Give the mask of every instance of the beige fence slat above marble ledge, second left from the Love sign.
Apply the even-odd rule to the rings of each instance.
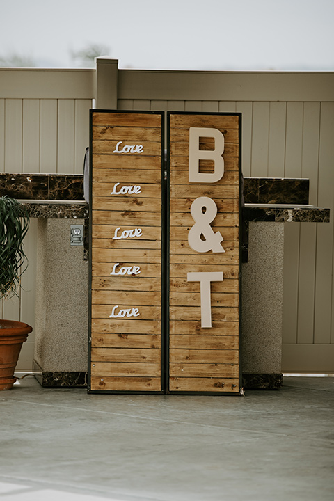
[[[74,100],[58,100],[58,174],[74,173]]]

